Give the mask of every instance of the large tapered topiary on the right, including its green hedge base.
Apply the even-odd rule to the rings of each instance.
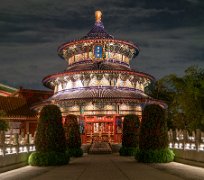
[[[170,162],[174,154],[168,149],[168,129],[165,110],[159,105],[147,105],[142,114],[139,135],[139,162]]]

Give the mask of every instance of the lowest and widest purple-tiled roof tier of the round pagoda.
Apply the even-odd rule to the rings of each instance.
[[[57,93],[44,101],[39,106],[45,104],[60,104],[68,102],[69,105],[83,104],[87,102],[102,102],[102,103],[136,103],[136,104],[159,104],[166,107],[163,101],[159,101],[149,97],[141,91],[124,91],[120,89],[103,89],[93,88],[86,90],[68,90]]]

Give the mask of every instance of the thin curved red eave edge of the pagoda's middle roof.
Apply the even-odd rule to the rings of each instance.
[[[63,72],[63,73],[56,73],[56,74],[52,74],[52,75],[48,75],[46,77],[43,78],[42,80],[42,83],[44,86],[50,88],[50,89],[53,89],[52,86],[50,86],[48,84],[48,82],[50,80],[55,80],[59,77],[63,77],[63,76],[66,76],[66,75],[73,75],[73,74],[83,74],[83,73],[110,73],[110,72],[113,72],[113,73],[126,73],[126,74],[132,74],[132,75],[137,75],[137,76],[140,76],[140,77],[145,77],[145,78],[148,78],[152,81],[155,81],[155,78],[147,73],[143,73],[143,72],[137,72],[137,71],[126,71],[126,70],[85,70],[85,71],[72,71],[72,72]]]

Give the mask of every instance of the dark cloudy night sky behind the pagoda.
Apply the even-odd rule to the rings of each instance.
[[[66,68],[57,48],[84,36],[97,9],[109,34],[140,47],[138,71],[159,79],[204,68],[204,0],[1,0],[0,83],[42,89]]]

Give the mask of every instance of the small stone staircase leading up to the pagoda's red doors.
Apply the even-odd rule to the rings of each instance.
[[[90,154],[111,154],[112,149],[109,143],[107,142],[94,142],[92,143],[90,149]]]

